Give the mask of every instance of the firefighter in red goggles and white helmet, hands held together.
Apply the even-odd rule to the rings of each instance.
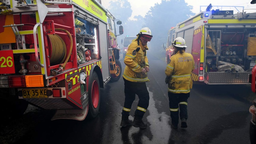
[[[137,38],[132,40],[128,46],[126,56],[124,57],[124,108],[122,110],[121,126],[132,125],[145,129],[147,124],[142,121],[149,104],[149,93],[146,82],[149,82],[147,72],[149,71],[147,42],[152,38],[151,30],[148,27],[142,28],[137,34]],[[129,112],[132,103],[135,100],[135,94],[139,97],[137,109],[135,110],[134,120],[129,120]]]

